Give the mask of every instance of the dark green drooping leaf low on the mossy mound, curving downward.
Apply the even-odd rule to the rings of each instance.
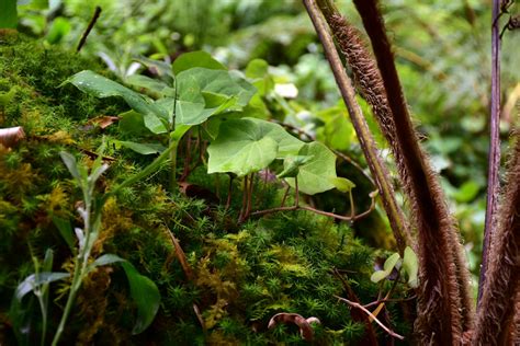
[[[140,275],[128,262],[122,262],[131,287],[131,296],[137,307],[137,321],[132,334],[145,331],[154,321],[159,310],[160,293],[156,284],[148,277]]]

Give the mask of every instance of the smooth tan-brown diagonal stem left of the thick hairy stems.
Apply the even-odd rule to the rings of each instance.
[[[326,1],[321,10],[325,13],[327,5],[330,10],[334,9],[334,4],[330,1]],[[319,41],[321,42],[327,60],[330,64],[336,83],[339,86],[343,102],[347,105],[349,115],[354,127],[355,134],[359,138],[361,149],[366,158],[369,169],[372,175],[375,177],[375,183],[381,192],[383,206],[394,232],[394,238],[397,242],[397,247],[400,255],[404,254],[407,244],[411,244],[409,227],[405,221],[403,210],[400,209],[395,198],[394,189],[391,185],[392,180],[386,168],[383,165],[375,146],[374,138],[370,132],[369,125],[363,117],[361,107],[355,101],[355,92],[352,86],[350,78],[347,76],[344,68],[339,58],[338,51],[334,45],[332,38],[327,30],[325,20],[321,16],[319,9],[313,0],[304,0],[307,12],[313,21],[314,27],[318,34]]]

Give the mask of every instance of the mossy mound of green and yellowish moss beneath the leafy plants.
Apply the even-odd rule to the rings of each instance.
[[[46,47],[18,34],[0,33],[1,127],[22,126],[26,138],[14,148],[0,146],[0,344],[15,344],[11,297],[34,272],[33,258],[47,249],[55,253],[54,270],[71,270],[71,252],[56,220],[80,226],[75,204],[80,200],[71,176],[59,159],[66,150],[89,164],[101,137],[117,137],[86,126],[101,115],[117,115],[126,106],[117,100],[97,100],[74,86],[59,86],[69,76],[100,66],[78,55]],[[113,128],[112,128],[113,127]],[[88,154],[86,154],[88,153]],[[111,168],[98,191],[110,191],[122,176],[139,171],[149,159],[112,150]],[[83,281],[63,337],[64,345],[269,345],[305,344],[295,326],[268,328],[279,312],[320,320],[315,343],[355,344],[364,325],[334,296],[346,296],[342,273],[361,301],[377,298],[370,281],[373,250],[352,235],[346,224],[307,211],[276,214],[237,224],[237,206],[229,210],[207,198],[170,194],[163,172],[123,189],[103,209],[102,233],[94,254],[114,253],[133,263],[159,287],[161,304],[154,323],[132,335],[135,307],[124,275],[116,267],[99,267]],[[224,176],[222,178],[225,178]],[[204,169],[191,183],[218,195],[215,176]],[[240,200],[235,188],[234,200]],[[274,185],[256,192],[256,207],[280,203]],[[176,255],[179,240],[191,276]],[[47,312],[49,332],[63,312],[68,281],[52,284]],[[384,285],[389,285],[384,284]],[[405,290],[397,286],[396,293]],[[41,313],[34,297],[24,300],[29,344],[39,344]],[[409,333],[402,309],[389,304],[393,327]],[[204,325],[204,328],[202,327]],[[52,336],[52,335],[50,335]],[[384,335],[380,336],[382,339]]]

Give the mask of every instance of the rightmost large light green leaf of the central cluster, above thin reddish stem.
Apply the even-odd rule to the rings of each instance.
[[[314,195],[336,187],[331,183],[331,178],[337,177],[336,155],[332,151],[319,142],[312,142],[304,145],[298,155],[313,157],[299,168],[297,178],[301,192]],[[294,178],[286,178],[286,182],[294,187]]]

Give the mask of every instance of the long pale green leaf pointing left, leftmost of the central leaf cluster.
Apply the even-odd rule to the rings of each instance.
[[[135,91],[121,85],[103,76],[86,70],[74,74],[64,83],[72,83],[79,90],[97,97],[120,96],[137,113],[143,114],[146,127],[154,134],[167,131],[166,116],[160,107]],[[162,118],[162,119],[161,119]]]

